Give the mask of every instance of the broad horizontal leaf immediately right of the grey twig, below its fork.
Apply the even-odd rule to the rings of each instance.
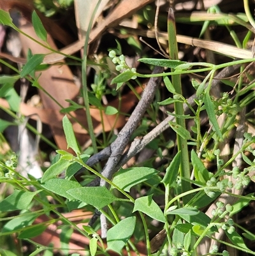
[[[132,186],[147,181],[156,174],[158,174],[158,171],[149,167],[120,169],[112,182],[122,188],[122,190],[129,192]]]

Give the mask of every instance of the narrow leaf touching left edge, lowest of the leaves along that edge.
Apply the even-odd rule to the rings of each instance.
[[[38,218],[38,216],[38,213],[30,212],[27,212],[26,214],[23,214],[21,216],[17,216],[4,225],[0,235],[4,233],[12,234],[17,232],[17,230],[21,230],[24,229],[25,227],[28,227],[34,222],[36,218]]]

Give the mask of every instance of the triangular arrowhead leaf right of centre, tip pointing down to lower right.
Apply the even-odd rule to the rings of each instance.
[[[152,195],[136,199],[133,212],[135,211],[142,211],[142,213],[145,213],[145,215],[148,215],[150,218],[158,220],[159,222],[166,222],[166,218],[164,217],[163,212],[152,199]]]

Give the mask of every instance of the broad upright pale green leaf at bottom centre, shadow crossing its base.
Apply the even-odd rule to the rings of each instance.
[[[136,225],[136,217],[131,216],[121,220],[107,232],[107,250],[113,250],[120,255],[122,248],[133,235]]]

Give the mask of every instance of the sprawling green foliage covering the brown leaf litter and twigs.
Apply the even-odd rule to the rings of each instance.
[[[59,11],[52,1],[38,0],[35,2],[37,8],[48,16]],[[71,0],[59,0],[58,3],[61,8],[67,8],[71,4]],[[218,14],[221,14],[217,8],[210,11],[216,11]],[[228,22],[225,22],[225,18]],[[229,26],[230,17],[224,17],[224,19],[217,20],[217,24]],[[240,22],[239,16],[235,15],[235,21],[238,20],[238,24],[244,26],[244,23]],[[36,11],[32,14],[32,22],[37,36],[41,40],[47,41],[47,31],[43,27]],[[170,25],[173,25],[173,29],[174,24],[173,22],[171,23]],[[19,33],[22,33],[13,24],[10,14],[3,10],[0,10],[0,24],[12,27]],[[201,27],[201,34],[205,33],[210,24],[211,22],[205,20],[203,27]],[[233,33],[231,35],[233,36]],[[233,36],[238,47],[242,47],[242,45],[246,47],[249,38],[251,38],[251,33],[247,33],[244,41],[238,43],[238,38]],[[170,35],[170,39],[170,44],[177,44],[174,33]],[[140,43],[130,37],[127,41],[129,45],[138,50],[140,55],[143,55]],[[48,46],[45,47],[50,49]],[[62,224],[59,226],[61,248],[59,250],[63,255],[68,255],[69,253],[69,241],[73,232],[79,232],[89,239],[89,244],[87,245],[89,248],[84,248],[84,251],[86,253],[89,252],[93,256],[108,256],[110,251],[124,255],[124,248],[126,248],[129,254],[132,254],[133,252],[131,253],[131,251],[134,251],[138,255],[136,245],[133,243],[134,237],[138,241],[146,243],[147,254],[151,255],[149,230],[156,229],[152,225],[153,220],[153,223],[161,222],[164,224],[166,234],[162,245],[159,245],[159,248],[157,248],[159,250],[157,255],[166,255],[164,254],[164,245],[168,246],[168,251],[171,255],[196,255],[196,250],[201,245],[203,239],[214,239],[219,230],[224,230],[230,240],[229,246],[255,255],[245,245],[244,239],[246,237],[253,241],[255,240],[254,234],[233,221],[235,219],[233,216],[242,211],[244,207],[255,199],[254,193],[249,195],[235,195],[231,193],[233,188],[242,190],[252,181],[251,172],[254,172],[255,166],[254,159],[252,159],[252,156],[254,156],[252,144],[255,142],[255,137],[249,133],[244,133],[242,146],[240,146],[237,153],[224,160],[226,163],[224,163],[221,151],[219,150],[219,148],[222,148],[222,141],[225,141],[226,138],[228,139],[230,130],[237,124],[236,116],[240,116],[240,111],[254,102],[254,82],[252,82],[254,78],[251,74],[247,75],[247,80],[249,80],[247,84],[242,80],[242,77],[240,81],[237,81],[238,84],[235,84],[235,82],[228,78],[222,80],[224,84],[231,86],[233,96],[229,92],[224,92],[221,98],[215,99],[212,97],[210,90],[214,74],[218,70],[231,67],[234,64],[247,64],[254,59],[211,64],[202,62],[187,63],[173,57],[171,59],[154,59],[141,56],[139,59],[141,63],[148,66],[163,66],[171,69],[171,72],[168,73],[144,75],[138,73],[136,68],[128,66],[121,48],[119,41],[117,41],[117,49],[110,50],[108,57],[104,53],[101,62],[92,62],[91,68],[94,69],[96,75],[93,80],[94,84],[91,84],[91,87],[89,87],[90,91],[87,91],[84,97],[88,103],[85,109],[89,111],[89,107],[97,108],[100,110],[100,114],[104,112],[106,115],[123,114],[120,113],[119,107],[104,107],[102,98],[109,93],[114,96],[119,93],[119,98],[121,98],[122,90],[117,90],[126,84],[135,91],[131,85],[132,83],[129,82],[130,79],[135,80],[132,82],[139,84],[140,80],[137,77],[150,78],[161,76],[163,77],[166,90],[170,94],[161,99],[161,96],[165,95],[156,93],[155,102],[147,110],[146,118],[142,120],[140,127],[137,128],[133,137],[147,134],[158,124],[159,113],[161,113],[159,112],[159,105],[169,110],[168,105],[173,104],[174,113],[165,112],[175,118],[175,121],[173,119],[168,121],[168,125],[171,127],[171,133],[174,133],[173,138],[177,137],[177,141],[179,141],[178,152],[175,154],[175,149],[172,151],[173,139],[168,139],[168,142],[166,142],[164,135],[161,134],[157,140],[153,140],[147,146],[150,149],[154,149],[157,154],[155,157],[153,156],[147,159],[146,162],[140,163],[140,167],[121,168],[110,181],[101,176],[100,163],[93,168],[87,165],[87,160],[89,160],[90,156],[85,154],[87,151],[84,153],[84,149],[82,145],[78,144],[75,132],[73,131],[72,122],[74,119],[71,116],[71,112],[84,109],[84,105],[75,102],[75,100],[65,99],[69,103],[69,107],[62,107],[60,110],[61,113],[68,115],[63,117],[62,126],[68,148],[72,149],[75,155],[62,149],[57,149],[57,155],[52,160],[50,167],[45,167],[46,170],[41,179],[34,179],[32,176],[22,176],[17,169],[16,154],[8,152],[6,155],[1,156],[0,182],[8,185],[6,191],[3,190],[0,201],[1,237],[3,236],[6,239],[6,237],[15,234],[15,237],[20,241],[26,241],[33,245],[31,240],[33,237],[43,234],[51,223],[61,222]],[[53,49],[51,50],[56,52]],[[174,50],[170,47],[169,52],[171,54]],[[175,58],[177,58],[177,53],[174,52],[173,54]],[[19,124],[21,120],[20,116],[16,114],[16,112],[19,112],[20,96],[18,96],[14,89],[15,82],[20,78],[25,78],[33,86],[43,90],[38,82],[40,76],[36,77],[35,73],[38,70],[48,68],[49,65],[42,64],[45,54],[33,55],[31,50],[29,50],[27,56],[27,63],[24,64],[21,71],[12,67],[15,75],[1,75],[0,77],[0,96],[6,99],[10,105],[10,110],[4,109],[4,107],[1,107],[1,109],[10,114],[14,120],[6,121],[0,119],[1,133],[9,126]],[[85,57],[87,56],[85,55]],[[80,61],[80,59],[78,60]],[[1,60],[1,63],[4,62]],[[83,60],[84,63],[89,63],[89,61],[85,62]],[[115,68],[114,72],[110,72],[110,69],[107,68],[109,63],[113,66],[113,69]],[[87,66],[85,65],[83,68],[86,70]],[[86,76],[84,70],[82,71],[83,79]],[[188,102],[182,95],[182,88],[179,83],[180,75],[193,73],[199,75],[201,72],[206,73],[204,78],[200,76],[197,80],[191,80],[191,86],[196,91],[195,104],[191,105],[192,103]],[[113,73],[115,75],[111,77]],[[241,68],[240,73],[244,73],[244,69]],[[112,79],[111,84],[117,84],[116,88],[110,87],[108,89],[110,78]],[[86,86],[84,82],[83,89]],[[184,104],[189,108],[189,114],[182,111]],[[164,112],[164,108],[162,107],[160,111]],[[200,121],[201,114],[205,114],[205,112],[208,117],[207,124],[211,126],[211,128],[206,126],[205,129],[207,130],[201,128],[202,124]],[[224,122],[220,126],[218,118],[223,114]],[[253,117],[251,118],[249,115],[250,113],[247,113],[249,117],[247,122],[253,122],[254,124],[254,120],[251,121]],[[190,129],[186,128],[187,120],[194,121]],[[93,127],[89,128],[89,132],[90,135],[91,132],[93,133]],[[96,153],[98,149],[104,149],[106,146],[109,146],[110,142],[115,138],[115,135],[113,136],[112,134],[113,131],[108,135],[103,130],[99,138],[96,138],[93,133],[92,137],[95,140],[92,142],[92,153]],[[170,144],[172,146],[169,146]],[[185,153],[184,148],[189,148],[191,153]],[[164,149],[167,151],[166,156]],[[249,153],[249,156],[247,156],[247,153]],[[154,160],[157,156],[161,160],[164,158],[164,161],[157,166],[157,169],[154,169]],[[235,166],[237,156],[242,157],[242,163],[245,163],[244,169],[241,169],[242,166]],[[213,162],[215,162],[215,168],[211,170],[205,163]],[[185,169],[184,165],[186,165],[186,173],[183,172],[183,169]],[[82,181],[76,176],[80,169],[84,170],[84,176],[81,178]],[[193,169],[192,174],[189,172],[191,169]],[[91,181],[91,172],[94,176],[105,179],[109,183],[107,188],[106,186],[84,186],[84,184],[87,185]],[[235,184],[233,181],[230,181],[229,177],[235,180]],[[224,205],[220,200],[222,194],[224,196],[238,197],[238,200],[233,205]],[[209,216],[208,213],[205,213],[205,209],[210,208],[212,204],[215,204],[215,209]],[[95,227],[89,227],[87,225],[89,220],[84,220],[84,225],[80,228],[77,223],[62,214],[78,208],[82,208],[85,211],[97,209],[106,216],[106,219],[112,225],[107,232],[106,246],[101,236],[99,236],[98,223],[96,223]],[[52,218],[52,213],[54,213],[54,218]],[[49,216],[49,220],[35,223],[36,218],[41,215]],[[238,234],[238,230],[235,230],[237,227],[242,230],[242,236]],[[221,242],[220,240],[218,241]],[[225,242],[222,241],[222,243]],[[30,256],[37,255],[43,251],[45,251],[45,256],[54,255],[54,248],[50,246],[47,247],[36,243],[34,243],[34,246],[34,252]],[[212,246],[207,255],[228,255],[226,251],[218,251],[217,246]],[[0,254],[8,256],[18,255],[14,251],[11,252],[10,248],[0,248]],[[73,253],[73,256],[77,255],[78,253]]]

